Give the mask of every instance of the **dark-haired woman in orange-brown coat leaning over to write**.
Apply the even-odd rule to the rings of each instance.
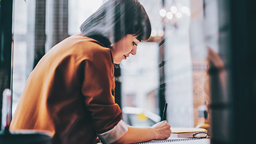
[[[11,130],[51,132],[54,143],[134,143],[170,137],[160,122],[125,124],[114,99],[114,63],[136,54],[149,38],[148,15],[137,0],[110,0],[55,45],[30,73]]]

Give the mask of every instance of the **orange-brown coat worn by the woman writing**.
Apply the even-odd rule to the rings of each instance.
[[[93,143],[122,119],[110,49],[81,34],[55,45],[30,73],[10,130],[46,130],[54,143]]]

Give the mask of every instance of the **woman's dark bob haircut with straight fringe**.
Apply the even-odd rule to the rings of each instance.
[[[151,25],[144,7],[137,0],[109,0],[83,22],[80,30],[83,36],[111,47],[127,34],[146,41],[151,34]]]

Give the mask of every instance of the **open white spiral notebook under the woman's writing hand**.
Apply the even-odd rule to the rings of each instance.
[[[198,138],[169,138],[166,140],[151,140],[146,142],[139,142],[138,144],[143,143],[195,143],[195,144],[210,144],[210,139],[198,139]]]

